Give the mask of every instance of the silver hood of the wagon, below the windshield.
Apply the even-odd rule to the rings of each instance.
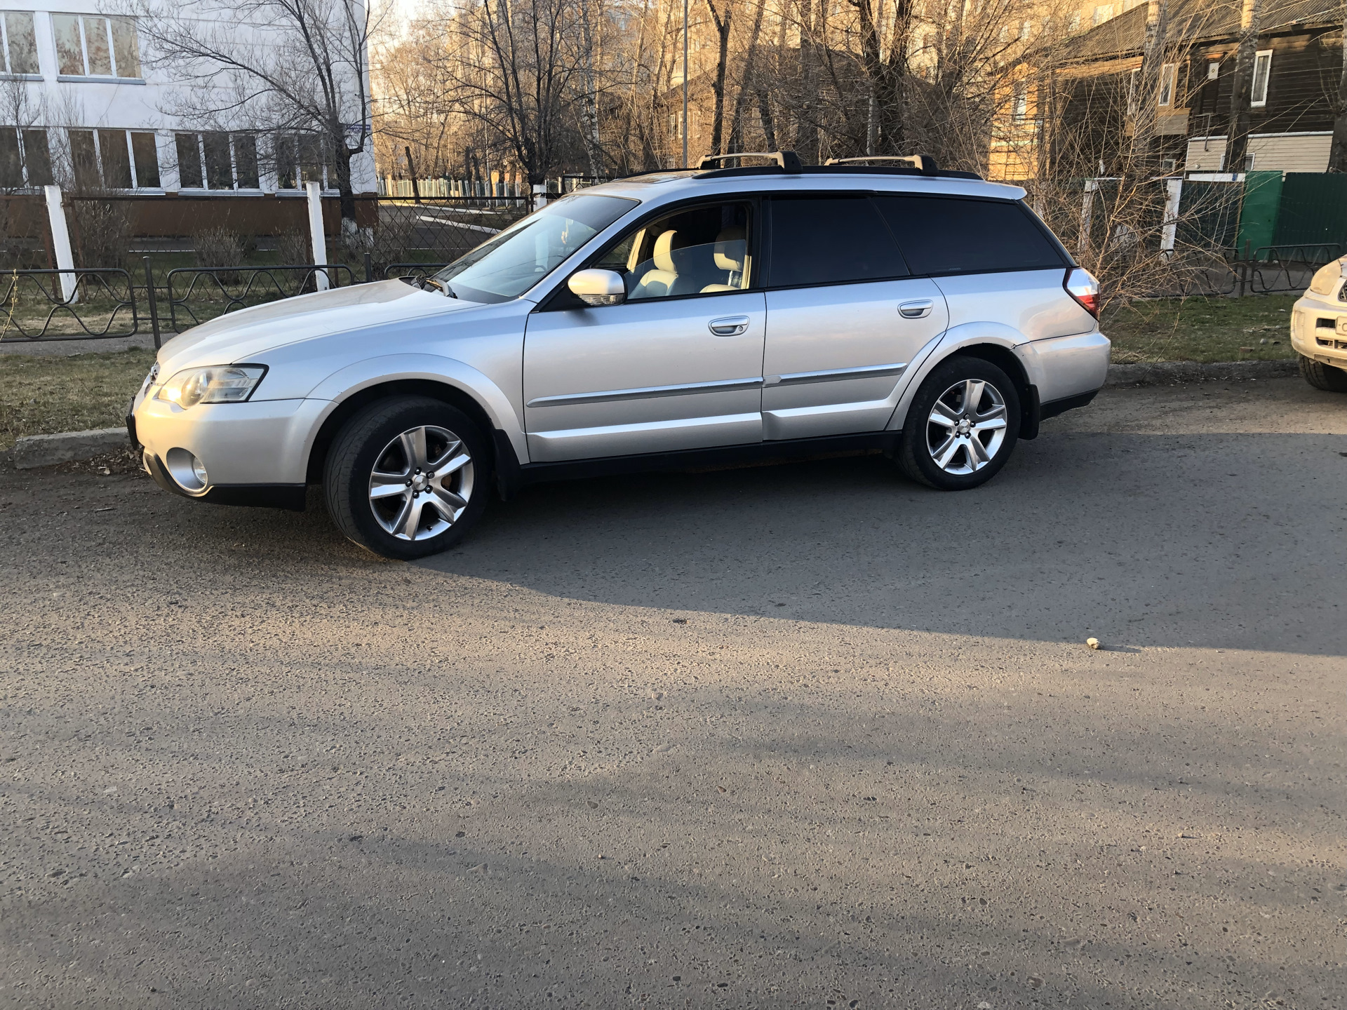
[[[291,343],[372,326],[480,308],[478,302],[422,291],[400,280],[353,284],[283,298],[194,326],[159,351],[163,374],[197,365],[230,365]]]

